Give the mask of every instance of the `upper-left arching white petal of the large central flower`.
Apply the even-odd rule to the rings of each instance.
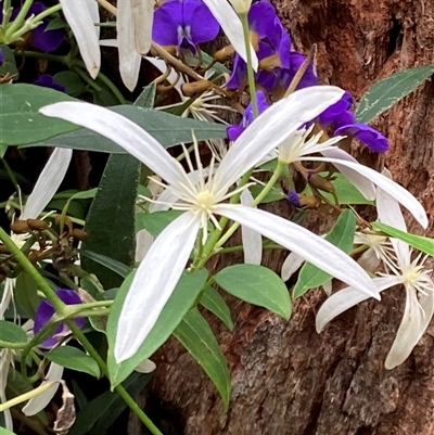
[[[41,107],[39,112],[89,128],[111,139],[169,184],[184,181],[182,166],[150,133],[125,116],[84,102],[55,103]]]

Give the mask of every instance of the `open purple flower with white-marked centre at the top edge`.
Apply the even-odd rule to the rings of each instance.
[[[196,44],[215,39],[220,30],[202,0],[168,0],[154,12],[152,39],[162,46],[178,46],[194,54]]]

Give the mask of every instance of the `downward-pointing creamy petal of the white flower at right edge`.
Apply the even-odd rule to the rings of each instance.
[[[421,303],[423,300],[424,308],[427,308],[425,314],[418,304],[416,291],[408,289],[406,293],[406,309],[403,321],[384,364],[387,370],[401,364],[409,357],[433,316],[434,293],[432,291],[427,292],[427,296],[421,297],[420,300]]]

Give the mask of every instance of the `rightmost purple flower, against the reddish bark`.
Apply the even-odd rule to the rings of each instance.
[[[388,139],[367,124],[356,123],[349,111],[344,112],[335,119],[334,127],[337,127],[334,136],[350,135],[376,153],[384,153],[388,150]]]

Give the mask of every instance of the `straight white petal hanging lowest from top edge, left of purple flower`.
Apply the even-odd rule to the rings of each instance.
[[[132,92],[139,79],[142,56],[136,50],[130,0],[117,2],[116,30],[120,77],[127,89]]]

